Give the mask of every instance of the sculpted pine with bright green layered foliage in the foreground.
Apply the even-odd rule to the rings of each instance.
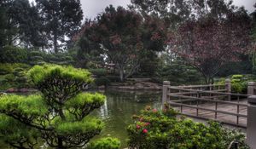
[[[34,66],[28,72],[41,91],[36,95],[0,97],[0,134],[16,148],[34,148],[37,140],[50,147],[83,147],[98,135],[102,121],[88,114],[102,106],[104,95],[82,93],[90,72],[72,66]]]

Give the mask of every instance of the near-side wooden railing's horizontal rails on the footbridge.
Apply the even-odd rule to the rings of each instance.
[[[226,115],[236,116],[236,123],[230,123],[225,121],[221,121],[221,122],[240,126],[240,127],[246,127],[244,124],[239,123],[239,118],[240,117],[247,118],[246,114],[240,113],[241,106],[244,106],[247,108],[247,104],[242,104],[239,102],[242,98],[247,98],[247,95],[219,92],[219,90],[226,91],[226,89],[218,89],[218,91],[216,90],[207,91],[207,90],[198,90],[198,89],[181,89],[178,87],[168,87],[168,90],[169,91],[177,90],[177,92],[171,92],[167,94],[167,97],[169,99],[167,103],[169,103],[171,106],[179,106],[180,107],[179,111],[183,115],[187,115],[189,117],[200,117],[204,119],[211,119],[210,117],[201,117],[199,115],[199,110],[201,110],[206,112],[214,112],[214,120],[218,120],[218,113],[222,113]],[[225,100],[225,99],[228,99],[229,96],[231,96],[232,100],[234,100],[234,97],[236,97],[236,102]],[[188,104],[188,102],[190,103],[194,102],[194,104]],[[200,106],[200,105],[207,106],[205,103],[213,103],[214,109]],[[223,104],[236,106],[236,112],[219,110],[218,106]],[[196,111],[195,115],[183,112],[183,107],[189,107],[189,108],[195,109]]]

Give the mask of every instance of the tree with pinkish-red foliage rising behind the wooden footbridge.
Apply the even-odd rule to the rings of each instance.
[[[213,83],[224,64],[247,54],[249,32],[250,20],[243,9],[221,20],[210,15],[179,26],[172,35],[172,50],[201,72],[206,83]]]

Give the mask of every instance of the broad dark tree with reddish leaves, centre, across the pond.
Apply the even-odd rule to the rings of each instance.
[[[84,52],[96,49],[106,55],[106,62],[113,63],[124,81],[137,71],[146,50],[165,49],[165,29],[157,18],[148,16],[143,20],[135,11],[110,5],[96,21],[84,24],[79,45]]]

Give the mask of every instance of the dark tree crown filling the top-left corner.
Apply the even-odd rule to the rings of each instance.
[[[28,0],[0,2],[0,40],[3,45],[42,47],[46,43],[35,6]]]

